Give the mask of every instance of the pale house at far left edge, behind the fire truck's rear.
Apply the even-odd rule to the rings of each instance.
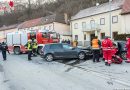
[[[18,31],[17,24],[10,26],[3,26],[0,28],[0,42],[6,38],[7,33]]]

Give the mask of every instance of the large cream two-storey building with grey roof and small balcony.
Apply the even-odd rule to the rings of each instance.
[[[130,15],[121,14],[124,2],[126,1],[113,0],[111,3],[79,11],[71,18],[72,39],[77,39],[79,45],[86,46],[94,36],[102,40],[104,36],[114,38],[117,34],[130,33],[130,26],[125,24],[130,23]]]

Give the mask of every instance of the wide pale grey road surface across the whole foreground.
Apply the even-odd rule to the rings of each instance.
[[[26,58],[8,55],[7,61],[0,60],[3,83],[10,90],[130,90],[129,64],[105,67],[103,62],[86,61],[70,66],[46,62],[40,57],[33,57],[32,61]]]

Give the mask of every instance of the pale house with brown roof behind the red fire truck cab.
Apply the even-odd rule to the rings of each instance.
[[[60,34],[60,41],[64,40],[71,40],[71,31],[70,31],[70,25],[66,24],[67,17],[65,18],[64,15],[50,15],[43,17],[42,19],[42,29],[49,30],[49,31],[55,31]]]

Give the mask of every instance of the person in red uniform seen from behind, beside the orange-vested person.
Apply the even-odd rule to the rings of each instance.
[[[105,65],[110,66],[112,63],[112,47],[113,43],[108,36],[102,41],[103,57],[105,59]]]

